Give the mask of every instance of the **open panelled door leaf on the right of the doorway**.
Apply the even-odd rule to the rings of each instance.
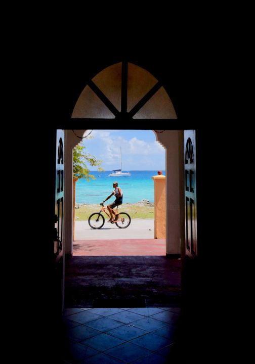
[[[186,256],[197,256],[196,140],[195,130],[184,130]]]

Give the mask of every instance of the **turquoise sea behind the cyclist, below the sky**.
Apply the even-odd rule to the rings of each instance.
[[[96,179],[91,179],[89,182],[84,178],[77,180],[75,202],[99,204],[112,193],[112,183],[115,180],[123,191],[123,203],[136,203],[141,200],[154,202],[154,181],[151,177],[157,175],[157,170],[130,170],[130,177],[122,176],[118,178],[109,177],[108,174],[111,172],[91,171],[90,174],[95,175]],[[123,170],[123,172],[125,171]],[[164,170],[162,170],[162,174],[165,175]],[[110,203],[113,202],[114,196],[108,201]]]

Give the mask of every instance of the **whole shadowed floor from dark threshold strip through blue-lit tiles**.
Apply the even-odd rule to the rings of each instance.
[[[180,259],[74,256],[65,272],[63,362],[180,359]]]

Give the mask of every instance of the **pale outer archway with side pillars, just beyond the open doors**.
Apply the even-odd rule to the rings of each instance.
[[[95,120],[95,124],[96,120]],[[65,130],[65,255],[73,252],[73,196],[72,196],[72,151],[80,143],[88,129]],[[114,129],[113,129],[114,130]],[[153,131],[153,130],[152,130]],[[185,248],[185,212],[184,212],[184,131],[154,131],[156,140],[165,148],[166,171],[166,255],[180,256]],[[77,134],[77,135],[75,135]]]

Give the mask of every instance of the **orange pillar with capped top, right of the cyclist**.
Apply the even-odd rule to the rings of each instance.
[[[165,239],[165,176],[151,178],[154,180],[154,239]]]

